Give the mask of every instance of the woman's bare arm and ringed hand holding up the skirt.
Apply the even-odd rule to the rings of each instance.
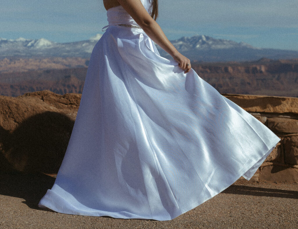
[[[120,5],[131,15],[144,32],[162,49],[169,53],[179,63],[179,67],[189,72],[190,60],[179,53],[168,40],[159,24],[148,14],[140,0],[117,0]],[[187,64],[189,64],[187,66]]]

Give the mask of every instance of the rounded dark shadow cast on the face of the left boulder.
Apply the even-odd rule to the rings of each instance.
[[[12,133],[0,126],[1,153],[18,171],[55,174],[73,125],[66,115],[47,111],[25,119]]]

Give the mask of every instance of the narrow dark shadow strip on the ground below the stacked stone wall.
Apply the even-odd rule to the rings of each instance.
[[[251,187],[251,186],[245,186],[245,185],[231,185],[222,193],[298,199],[298,191],[290,191],[290,190],[274,189],[274,188],[258,188],[258,187]]]

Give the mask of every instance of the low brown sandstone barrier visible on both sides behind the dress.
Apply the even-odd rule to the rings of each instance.
[[[225,94],[280,137],[252,180],[298,182],[298,98]],[[0,96],[0,172],[55,174],[81,94],[50,91]]]

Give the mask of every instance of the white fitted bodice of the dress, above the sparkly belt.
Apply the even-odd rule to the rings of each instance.
[[[143,6],[149,12],[151,0],[141,0]],[[126,10],[120,5],[115,6],[107,10],[108,25],[103,27],[109,27],[111,25],[128,24],[138,25],[136,21],[126,12]]]

